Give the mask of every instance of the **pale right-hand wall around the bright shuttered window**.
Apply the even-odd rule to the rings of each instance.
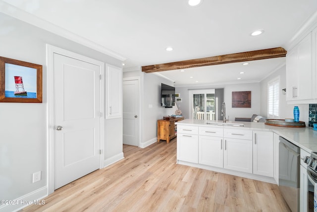
[[[267,76],[264,80],[261,81],[261,114],[267,116],[267,83],[276,78],[280,77],[280,98],[279,98],[279,118],[294,118],[293,109],[294,104],[288,104],[286,102],[286,95],[282,94],[282,89],[286,87],[286,66],[277,69],[269,76]],[[286,90],[287,92],[287,90]],[[304,121],[306,126],[308,126],[308,118],[309,118],[309,104],[296,104],[300,111],[300,121]]]

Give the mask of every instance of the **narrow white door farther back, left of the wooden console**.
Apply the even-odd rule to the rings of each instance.
[[[139,80],[123,81],[123,143],[138,146]]]

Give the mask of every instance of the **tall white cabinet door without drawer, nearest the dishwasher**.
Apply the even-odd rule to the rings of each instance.
[[[253,174],[273,177],[273,133],[253,132]]]

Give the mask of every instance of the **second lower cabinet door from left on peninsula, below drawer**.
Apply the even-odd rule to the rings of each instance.
[[[199,136],[200,164],[223,168],[223,144],[219,137]]]

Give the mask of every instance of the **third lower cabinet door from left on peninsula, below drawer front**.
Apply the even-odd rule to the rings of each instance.
[[[223,168],[252,173],[252,140],[224,138]]]

